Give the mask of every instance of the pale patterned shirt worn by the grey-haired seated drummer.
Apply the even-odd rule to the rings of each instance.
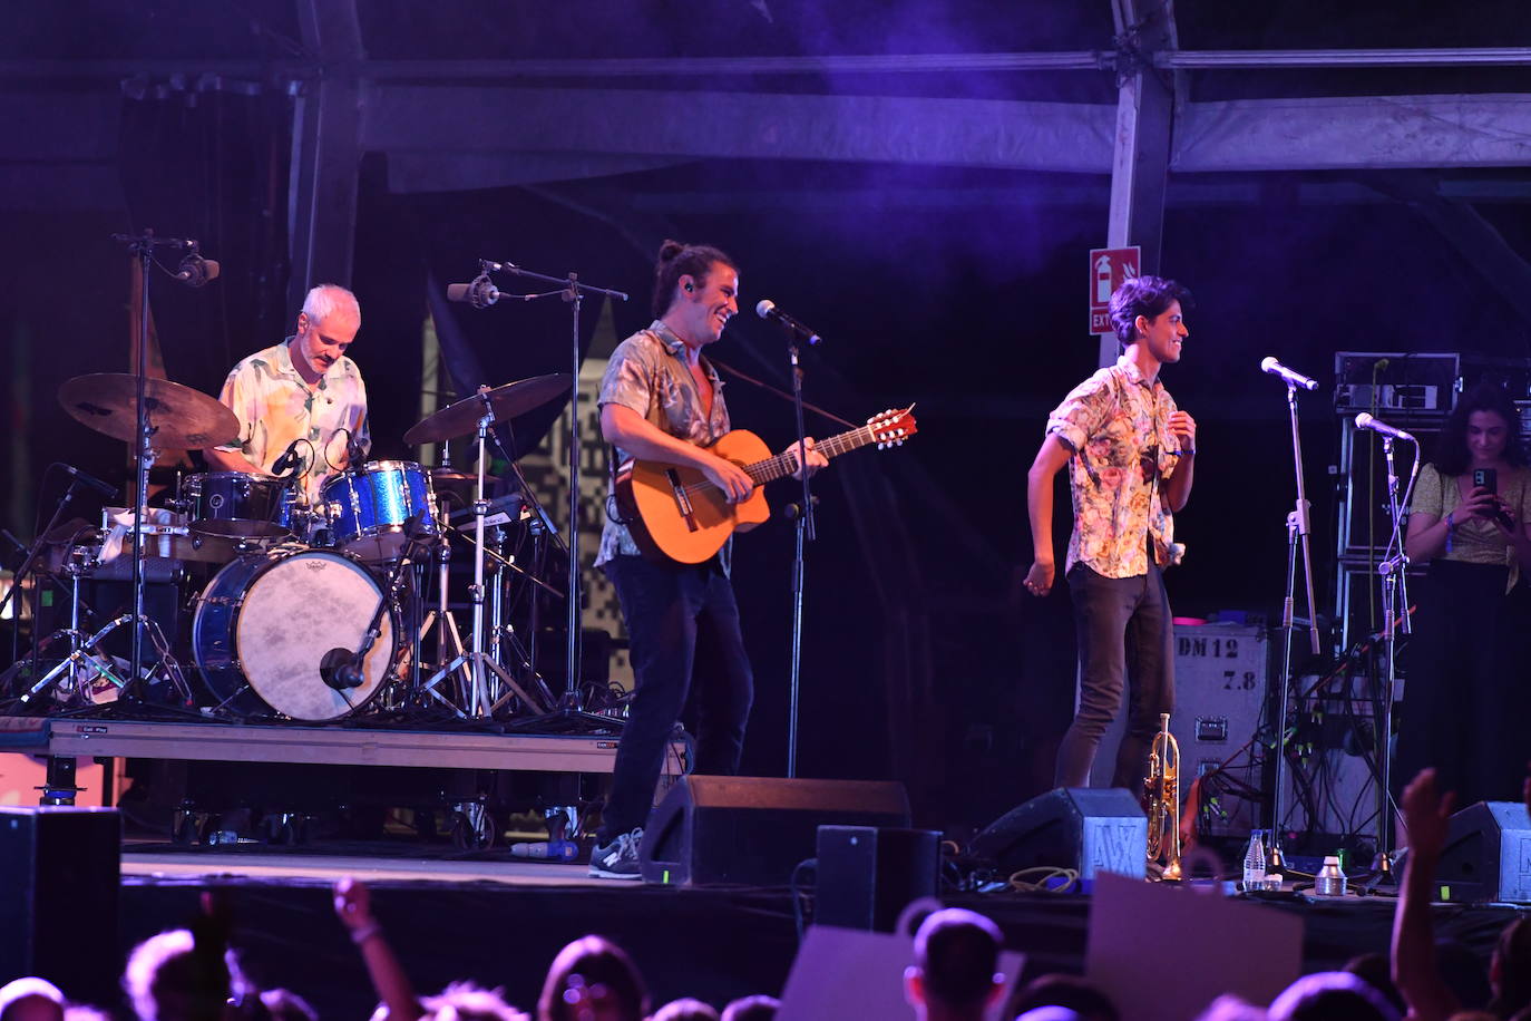
[[[372,447],[367,390],[357,363],[346,357],[309,389],[286,343],[257,351],[230,370],[219,400],[239,419],[240,436],[222,450],[240,452],[263,471],[271,471],[292,441],[302,441],[299,478],[309,504],[318,502],[326,479],[348,467],[348,438],[354,436],[363,453]]]

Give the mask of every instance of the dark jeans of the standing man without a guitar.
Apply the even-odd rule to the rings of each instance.
[[[1112,787],[1142,790],[1159,713],[1174,709],[1174,628],[1164,574],[1108,579],[1082,563],[1069,571],[1069,595],[1079,637],[1079,710],[1058,749],[1053,782],[1084,787],[1101,735],[1122,704],[1127,730],[1116,752]]]

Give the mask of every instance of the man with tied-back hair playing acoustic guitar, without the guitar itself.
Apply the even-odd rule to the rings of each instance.
[[[617,346],[600,384],[602,435],[619,461],[695,468],[727,504],[741,504],[755,491],[755,479],[709,450],[729,432],[729,410],[723,383],[701,354],[739,311],[738,268],[717,248],[668,240],[654,276],[654,323]],[[782,456],[796,467],[795,449]],[[810,470],[828,464],[811,439],[807,462]],[[622,602],[635,690],[591,851],[591,876],[638,879],[643,822],[694,675],[700,684],[695,771],[738,771],[755,681],[739,634],[729,551],[724,542],[700,563],[652,550],[645,557],[615,491],[608,499],[596,566]],[[703,634],[715,663],[695,661]]]

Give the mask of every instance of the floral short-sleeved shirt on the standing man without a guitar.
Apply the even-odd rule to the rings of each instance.
[[[1154,563],[1180,562],[1185,548],[1174,542],[1164,493],[1179,459],[1179,442],[1165,426],[1173,412],[1164,384],[1145,380],[1122,355],[1076,386],[1047,418],[1047,435],[1073,452],[1066,572],[1084,563],[1110,579],[1147,574],[1150,543]]]

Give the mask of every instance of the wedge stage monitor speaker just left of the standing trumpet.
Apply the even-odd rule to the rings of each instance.
[[[971,851],[1004,876],[1053,865],[1078,869],[1085,886],[1096,873],[1142,879],[1148,817],[1124,787],[1058,787],[991,822]]]

